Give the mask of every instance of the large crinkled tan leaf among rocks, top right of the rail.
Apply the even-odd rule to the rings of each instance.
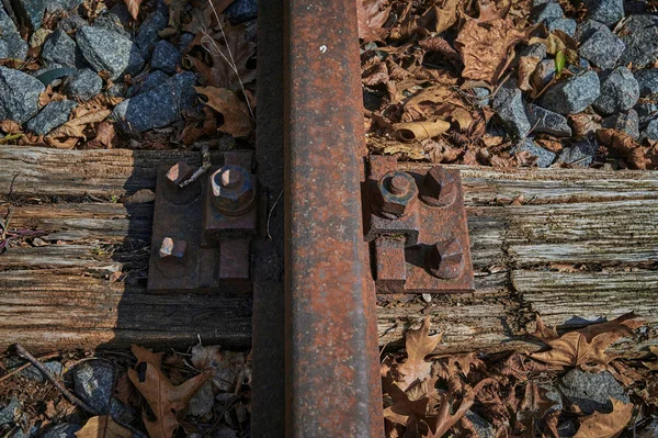
[[[462,55],[462,77],[496,83],[513,55],[514,45],[525,33],[514,26],[511,19],[481,21],[467,19],[455,40]]]

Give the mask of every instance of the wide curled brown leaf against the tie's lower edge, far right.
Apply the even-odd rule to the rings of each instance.
[[[632,329],[640,327],[644,321],[637,319],[637,317],[633,312],[627,313],[606,323],[592,324],[578,330],[568,332],[559,338],[552,338],[553,333],[547,336],[548,332],[543,329],[537,337],[551,347],[551,350],[534,352],[530,357],[561,367],[608,363],[614,357],[606,355],[605,349],[615,340],[631,336]]]

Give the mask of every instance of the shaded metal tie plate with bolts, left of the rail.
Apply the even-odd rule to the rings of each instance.
[[[251,291],[249,246],[257,229],[253,154],[234,150],[181,188],[196,170],[183,161],[158,169],[148,291]]]

